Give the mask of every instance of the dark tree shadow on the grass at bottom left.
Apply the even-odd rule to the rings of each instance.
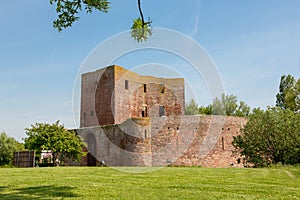
[[[0,187],[0,192],[5,187]],[[11,193],[1,194],[1,199],[57,199],[64,197],[79,197],[73,190],[74,187],[58,187],[58,186],[36,186],[20,188]]]

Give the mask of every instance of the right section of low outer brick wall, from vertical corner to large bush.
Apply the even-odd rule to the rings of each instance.
[[[152,119],[152,165],[239,166],[231,143],[246,122],[240,117],[200,115]]]

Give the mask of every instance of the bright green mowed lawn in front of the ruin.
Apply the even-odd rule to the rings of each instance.
[[[0,199],[300,199],[300,168],[0,168]]]

